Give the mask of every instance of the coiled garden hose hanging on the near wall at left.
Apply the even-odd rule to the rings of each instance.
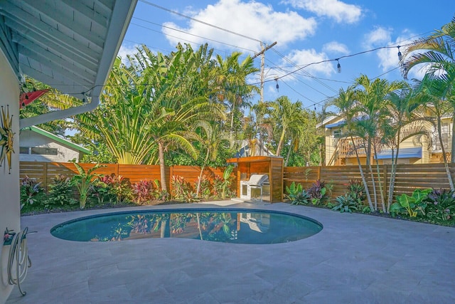
[[[8,283],[18,285],[21,295],[26,295],[26,292],[21,288],[21,283],[27,276],[28,267],[31,266],[31,260],[28,256],[27,232],[28,227],[14,235],[8,258]]]

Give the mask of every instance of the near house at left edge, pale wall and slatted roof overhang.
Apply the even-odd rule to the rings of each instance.
[[[93,110],[119,51],[137,0],[0,1],[0,107],[9,123],[0,151],[0,230],[21,231],[21,129]],[[87,103],[19,120],[21,80],[28,75]],[[0,111],[1,113],[1,111]],[[13,152],[14,151],[14,152]],[[0,303],[8,299],[9,247],[0,250]]]

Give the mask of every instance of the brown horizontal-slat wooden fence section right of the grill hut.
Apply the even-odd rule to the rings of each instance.
[[[370,172],[368,167],[363,166],[362,168],[365,177],[367,177],[368,189],[373,196]],[[449,164],[449,169],[452,178],[454,178],[455,164]],[[380,185],[382,186],[382,194],[387,199],[391,171],[391,164],[380,165],[380,179],[378,179],[376,166],[373,166],[378,202],[380,201]],[[403,193],[411,194],[414,189],[450,189],[444,164],[398,164],[396,172],[394,199]],[[332,197],[345,194],[350,179],[362,180],[358,166],[284,167],[284,189],[287,186],[289,187],[292,182],[300,183],[304,189],[307,189],[317,179],[333,184]]]

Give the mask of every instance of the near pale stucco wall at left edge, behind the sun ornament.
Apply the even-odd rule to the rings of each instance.
[[[9,115],[13,115],[14,153],[11,158],[11,173],[8,162],[0,167],[0,231],[3,236],[6,227],[19,231],[21,217],[19,207],[19,83],[11,66],[0,51],[0,105],[9,105]],[[3,245],[3,242],[2,242]],[[11,293],[12,286],[8,285],[6,266],[8,263],[9,246],[2,246],[0,251],[1,280],[0,303],[4,303]]]

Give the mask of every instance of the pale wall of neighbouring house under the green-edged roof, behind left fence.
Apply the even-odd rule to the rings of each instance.
[[[79,159],[79,151],[70,149],[70,147],[61,145],[59,142],[31,130],[21,131],[20,144],[21,147],[48,147],[58,150],[58,155],[20,154],[20,159],[23,162],[68,162],[72,159]]]

